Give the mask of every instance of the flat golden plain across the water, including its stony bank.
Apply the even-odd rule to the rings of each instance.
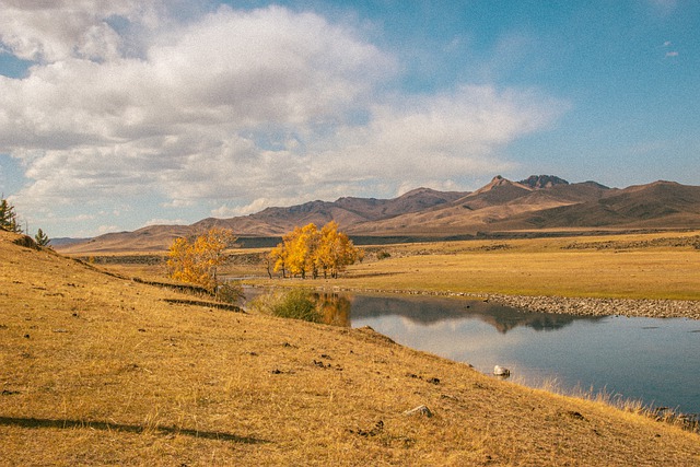
[[[364,250],[364,261],[338,280],[270,280],[266,249],[232,250],[220,272],[255,285],[467,294],[550,313],[700,319],[697,231],[427,242]],[[96,261],[127,276],[163,280],[167,273],[162,252],[103,255]]]

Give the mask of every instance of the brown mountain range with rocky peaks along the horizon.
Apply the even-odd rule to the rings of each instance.
[[[355,243],[551,232],[700,229],[700,187],[654,182],[623,189],[595,182],[569,183],[552,175],[520,182],[495,176],[475,191],[417,188],[398,198],[343,197],[310,201],[191,225],[150,225],[133,232],[54,242],[65,253],[163,250],[177,236],[210,226],[229,227],[244,246],[279,241],[295,226],[336,221]]]

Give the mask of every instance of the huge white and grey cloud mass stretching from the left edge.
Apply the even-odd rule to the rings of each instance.
[[[451,185],[511,166],[499,150],[565,108],[489,85],[389,95],[396,58],[351,26],[173,4],[0,0],[2,47],[34,61],[0,77],[0,152],[27,207],[150,192],[223,215]]]

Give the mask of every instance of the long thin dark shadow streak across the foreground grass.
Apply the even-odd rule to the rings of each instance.
[[[176,427],[142,427],[138,424],[107,423],[102,421],[84,420],[52,420],[35,418],[0,417],[0,425],[20,428],[56,428],[56,429],[92,429],[105,431],[119,431],[124,433],[158,433],[158,434],[179,434],[185,436],[201,437],[205,440],[231,441],[242,444],[269,443],[266,440],[258,440],[249,436],[238,436],[237,434],[219,431],[199,431]]]

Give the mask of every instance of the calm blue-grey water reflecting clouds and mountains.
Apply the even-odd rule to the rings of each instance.
[[[436,296],[322,294],[326,317],[404,346],[563,393],[605,392],[700,413],[700,322],[521,312]]]

